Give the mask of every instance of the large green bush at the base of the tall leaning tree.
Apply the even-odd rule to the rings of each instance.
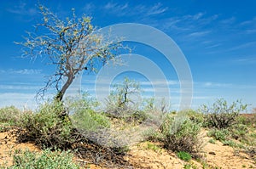
[[[61,102],[43,104],[37,113],[26,113],[20,118],[20,127],[26,132],[20,133],[20,139],[33,140],[40,146],[66,149],[71,146],[70,137],[73,125],[64,111]]]

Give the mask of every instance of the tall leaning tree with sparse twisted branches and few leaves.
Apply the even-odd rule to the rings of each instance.
[[[61,20],[43,5],[38,5],[38,8],[43,15],[43,23],[36,25],[36,33],[28,32],[26,42],[18,44],[24,47],[24,57],[37,59],[40,56],[48,59],[49,65],[55,65],[55,73],[49,76],[38,95],[43,97],[49,87],[55,86],[55,99],[61,101],[79,73],[83,70],[96,72],[108,60],[116,58],[116,51],[122,48],[122,44],[95,34],[91,18],[85,15],[78,18],[74,9],[71,19]],[[63,80],[65,82],[61,86]]]

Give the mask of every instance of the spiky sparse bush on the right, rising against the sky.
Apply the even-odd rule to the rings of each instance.
[[[203,105],[201,112],[206,114],[207,127],[227,128],[236,122],[241,111],[247,109],[247,104],[241,104],[240,100],[228,105],[224,99],[218,99],[211,107]]]

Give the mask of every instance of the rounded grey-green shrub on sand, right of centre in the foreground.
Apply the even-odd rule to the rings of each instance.
[[[201,150],[199,134],[201,125],[188,118],[166,116],[161,132],[164,135],[164,144],[173,151],[185,151],[196,155]]]

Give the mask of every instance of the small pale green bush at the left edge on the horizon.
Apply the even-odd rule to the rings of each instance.
[[[20,110],[15,106],[8,106],[0,109],[0,122],[6,122],[15,125],[20,119]]]

